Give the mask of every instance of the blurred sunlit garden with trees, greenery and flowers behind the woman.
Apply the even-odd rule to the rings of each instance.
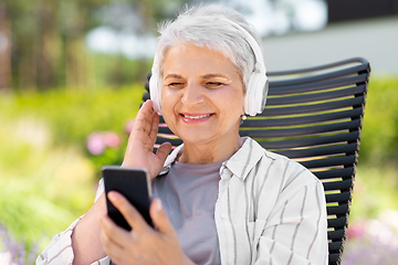
[[[185,2],[0,0],[0,264],[33,264],[92,205],[101,167],[122,162],[153,42],[100,51],[95,29],[145,42]],[[398,258],[397,102],[396,73],[375,71],[343,264]]]

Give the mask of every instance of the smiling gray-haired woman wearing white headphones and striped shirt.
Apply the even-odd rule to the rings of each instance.
[[[56,235],[38,264],[326,264],[322,183],[301,165],[239,136],[266,97],[259,38],[238,12],[192,8],[160,29],[150,80],[123,166],[153,179],[147,225],[117,192],[133,227],[106,215],[101,182],[92,209]],[[153,152],[158,113],[184,140]]]

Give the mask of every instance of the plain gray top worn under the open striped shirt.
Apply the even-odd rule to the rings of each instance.
[[[184,253],[195,264],[221,264],[214,221],[221,163],[175,161],[153,182],[153,197],[161,200]]]

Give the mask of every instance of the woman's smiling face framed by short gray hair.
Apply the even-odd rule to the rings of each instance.
[[[185,144],[232,144],[239,139],[243,103],[241,76],[220,52],[192,44],[167,51],[161,113]]]

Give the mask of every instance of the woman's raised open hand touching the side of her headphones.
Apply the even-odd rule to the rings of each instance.
[[[159,125],[159,115],[153,109],[153,102],[146,100],[139,109],[128,138],[122,166],[146,168],[150,178],[156,178],[171,150],[171,144],[163,144],[156,155],[153,152]]]

